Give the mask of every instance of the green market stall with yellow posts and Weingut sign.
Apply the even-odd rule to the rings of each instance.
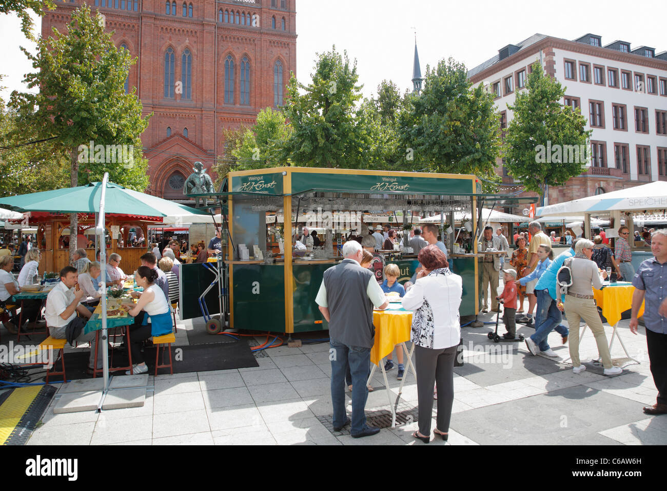
[[[340,249],[350,230],[364,230],[364,214],[403,210],[407,222],[408,216],[438,212],[449,214],[452,223],[454,212],[467,211],[480,217],[473,220],[478,236],[484,204],[534,199],[484,194],[472,175],[295,167],[230,172],[219,192],[189,196],[213,199],[221,209],[229,327],[277,333],[327,329],[315,296],[324,271],[342,261]],[[323,244],[313,251],[293,251],[303,225],[324,231]],[[410,226],[404,224],[406,230]],[[450,251],[450,267],[464,280],[460,314],[475,316],[481,305],[481,255],[476,241],[471,253],[452,254],[454,234],[445,235],[445,228],[441,240]],[[386,251],[386,262],[398,265],[401,283],[419,266],[416,256],[398,251]],[[192,291],[201,293],[196,284]]]

